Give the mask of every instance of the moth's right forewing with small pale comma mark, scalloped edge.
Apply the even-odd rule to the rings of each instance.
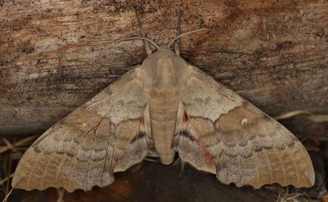
[[[291,132],[198,68],[189,66],[188,71],[182,104],[214,160],[218,180],[237,187],[260,188],[272,183],[313,186],[309,154]]]

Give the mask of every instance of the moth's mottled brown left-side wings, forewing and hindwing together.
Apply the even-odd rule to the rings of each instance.
[[[89,191],[153,150],[148,99],[135,68],[47,130],[19,161],[12,187]]]

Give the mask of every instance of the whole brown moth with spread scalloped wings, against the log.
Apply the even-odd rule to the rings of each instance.
[[[180,18],[175,39],[182,36]],[[150,41],[137,20],[143,37],[134,38]],[[149,56],[140,66],[31,145],[18,163],[12,187],[89,191],[110,185],[114,172],[125,171],[154,150],[163,164],[178,152],[196,169],[237,187],[313,186],[309,154],[291,132],[188,64],[179,56],[178,42],[175,53],[169,48],[172,42],[156,45],[152,53],[148,41]]]

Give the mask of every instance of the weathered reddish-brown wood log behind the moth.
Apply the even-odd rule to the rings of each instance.
[[[328,3],[321,1],[2,1],[0,135],[42,133],[175,37],[191,64],[269,115],[328,112]],[[154,50],[154,47],[152,47]]]

